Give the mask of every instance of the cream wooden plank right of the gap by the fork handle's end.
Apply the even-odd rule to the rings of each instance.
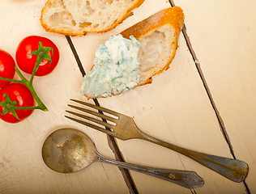
[[[175,2],[187,16],[187,32],[234,154],[249,164],[245,183],[254,193],[256,2]]]

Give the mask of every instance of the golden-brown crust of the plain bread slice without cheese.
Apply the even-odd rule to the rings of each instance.
[[[137,7],[139,7],[141,4],[143,4],[143,2],[145,0],[135,0],[134,3],[128,7],[128,9],[126,11],[124,11],[122,17],[120,17],[119,19],[117,19],[116,21],[113,22],[113,24],[107,28],[105,28],[104,30],[86,30],[84,29],[82,32],[78,31],[78,32],[71,32],[69,30],[62,30],[62,29],[54,29],[53,27],[50,27],[47,22],[44,19],[44,16],[46,15],[46,12],[50,9],[51,6],[53,6],[55,0],[48,0],[45,3],[44,8],[41,11],[41,26],[45,28],[46,32],[53,32],[53,33],[58,33],[58,34],[62,34],[65,36],[85,36],[87,35],[87,33],[92,33],[92,32],[96,32],[96,33],[103,33],[103,32],[109,32],[110,30],[112,30],[113,28],[117,27],[120,23],[122,23],[125,19],[127,19],[128,17],[130,17],[131,15],[133,15],[133,10]],[[85,0],[83,0],[85,1]]]

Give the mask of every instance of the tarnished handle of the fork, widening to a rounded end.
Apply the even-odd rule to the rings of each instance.
[[[240,160],[187,150],[185,148],[174,146],[173,144],[169,144],[165,141],[156,139],[155,137],[151,137],[146,133],[143,133],[142,131],[141,133],[141,139],[151,141],[159,146],[164,146],[191,159],[194,159],[196,162],[199,162],[203,166],[208,167],[211,170],[218,172],[220,175],[223,175],[224,177],[231,179],[237,183],[245,180],[246,176],[248,175],[248,164]]]

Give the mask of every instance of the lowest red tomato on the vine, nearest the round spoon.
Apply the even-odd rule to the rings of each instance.
[[[27,86],[24,86],[22,83],[13,82],[0,90],[0,102],[6,101],[3,98],[3,95],[9,95],[11,101],[16,101],[16,107],[33,107],[35,106],[35,100],[28,90]],[[0,107],[0,111],[3,112],[3,107]],[[2,116],[0,114],[0,119],[5,120],[8,123],[19,123],[21,120],[28,118],[32,115],[34,110],[15,110],[19,120],[11,113],[8,112],[6,115]]]

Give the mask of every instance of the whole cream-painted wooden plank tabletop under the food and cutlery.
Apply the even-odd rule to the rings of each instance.
[[[34,79],[35,90],[49,112],[35,111],[19,124],[0,120],[0,193],[256,193],[256,2],[173,1],[185,13],[186,29],[169,70],[154,77],[150,85],[98,99],[100,106],[134,117],[139,129],[153,137],[249,164],[245,182],[234,183],[172,150],[147,141],[116,140],[126,162],[196,171],[205,184],[192,190],[130,171],[132,189],[122,171],[100,162],[73,174],[46,167],[41,158],[45,138],[66,127],[87,133],[100,154],[116,157],[104,133],[64,117],[70,98],[87,99],[79,93],[83,76],[66,36],[45,32],[40,25],[45,2],[0,2],[1,49],[15,57],[20,40],[38,35],[53,40],[61,53],[52,74]],[[165,0],[146,0],[111,32],[71,37],[83,69],[91,69],[96,48],[109,36],[169,6]]]

